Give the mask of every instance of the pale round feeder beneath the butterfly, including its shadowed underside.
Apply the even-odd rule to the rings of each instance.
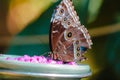
[[[0,78],[14,80],[80,80],[91,75],[87,64],[38,64],[6,60],[15,55],[0,55]]]

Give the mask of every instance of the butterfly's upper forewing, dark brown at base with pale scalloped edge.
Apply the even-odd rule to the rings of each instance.
[[[55,47],[57,46],[59,36],[64,32],[66,28],[69,27],[68,24],[71,22],[73,26],[75,26],[76,23],[80,24],[79,17],[74,11],[72,2],[70,0],[62,0],[54,10],[51,19],[50,43],[52,51],[54,51]]]

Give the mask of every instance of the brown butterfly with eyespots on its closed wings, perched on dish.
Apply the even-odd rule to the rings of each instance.
[[[86,59],[84,53],[91,48],[92,41],[79,21],[72,0],[62,0],[56,7],[50,28],[52,59],[64,62]]]

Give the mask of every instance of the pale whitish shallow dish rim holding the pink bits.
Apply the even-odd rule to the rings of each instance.
[[[40,64],[6,60],[7,57],[18,57],[16,55],[0,55],[0,74],[10,72],[29,76],[56,76],[56,77],[87,77],[91,75],[90,67],[85,64]],[[4,68],[4,70],[2,69]],[[3,72],[2,72],[3,71]]]

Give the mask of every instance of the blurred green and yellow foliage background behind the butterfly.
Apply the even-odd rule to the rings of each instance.
[[[60,0],[0,0],[0,53],[49,52],[53,10]],[[73,0],[93,41],[85,63],[93,75],[83,80],[120,80],[120,1]]]

